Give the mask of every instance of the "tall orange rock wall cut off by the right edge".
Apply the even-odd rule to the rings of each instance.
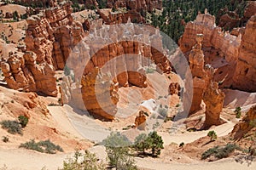
[[[233,88],[256,91],[256,15],[247,22],[245,33],[241,38]]]

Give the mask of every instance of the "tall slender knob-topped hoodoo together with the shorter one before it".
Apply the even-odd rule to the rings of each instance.
[[[205,65],[204,54],[201,50],[203,35],[197,34],[196,44],[189,54],[189,67],[193,76],[193,99],[189,115],[201,110],[201,101],[206,104],[205,127],[219,125],[220,113],[224,105],[224,93],[218,89],[218,82],[212,82],[213,68]]]

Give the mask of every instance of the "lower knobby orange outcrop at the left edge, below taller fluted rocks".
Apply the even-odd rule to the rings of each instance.
[[[23,56],[10,54],[1,67],[9,88],[26,92],[42,92],[50,96],[57,95],[55,70],[48,63],[36,64],[36,54],[26,52]]]

